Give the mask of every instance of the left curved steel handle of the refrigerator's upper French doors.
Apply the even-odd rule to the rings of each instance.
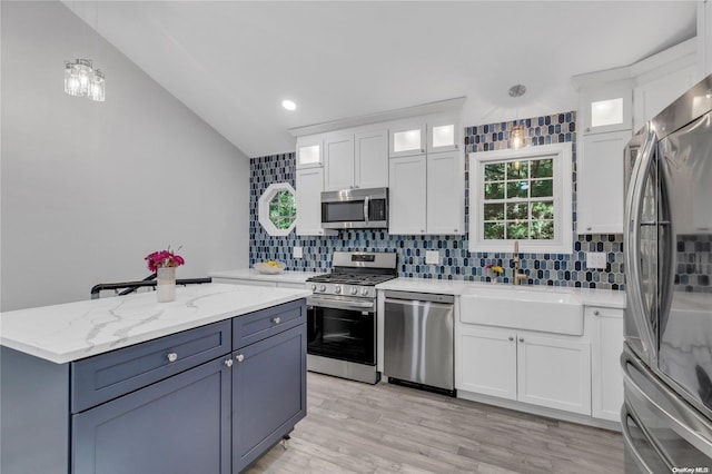
[[[656,347],[654,344],[653,332],[647,318],[645,317],[646,308],[643,297],[643,283],[641,280],[640,268],[640,227],[643,224],[641,221],[641,208],[643,206],[645,175],[654,158],[656,145],[657,137],[652,127],[650,127],[645,141],[641,147],[641,159],[635,160],[632,171],[631,187],[625,196],[627,228],[625,229],[626,248],[624,255],[625,267],[629,270],[626,278],[627,310],[630,310],[633,323],[637,327],[641,338],[643,338],[643,349],[647,353],[647,362],[651,362],[656,357]]]

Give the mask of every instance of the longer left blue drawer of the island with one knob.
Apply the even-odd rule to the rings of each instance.
[[[229,352],[228,319],[73,362],[71,412],[79,413]]]

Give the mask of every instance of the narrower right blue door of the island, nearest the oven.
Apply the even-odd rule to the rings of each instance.
[[[306,326],[234,353],[233,471],[241,471],[306,415]]]

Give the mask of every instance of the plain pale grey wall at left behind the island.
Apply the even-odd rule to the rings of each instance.
[[[1,309],[144,278],[168,245],[178,278],[247,266],[248,158],[61,3],[1,9]],[[106,102],[63,92],[75,58]]]

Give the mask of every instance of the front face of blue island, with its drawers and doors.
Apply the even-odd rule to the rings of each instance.
[[[72,364],[72,398],[95,401],[72,402],[72,474],[238,473],[306,416],[306,306]],[[120,393],[101,398],[110,387]]]

